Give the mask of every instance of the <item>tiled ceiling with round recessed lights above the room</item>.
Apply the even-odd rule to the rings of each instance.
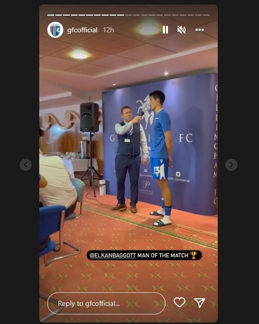
[[[85,16],[95,14],[116,16]],[[79,104],[105,90],[161,80],[165,71],[166,78],[217,71],[218,23],[213,5],[44,5],[39,19],[40,109]],[[53,21],[63,25],[59,38],[47,33]],[[161,32],[139,34],[139,26],[148,22]],[[163,25],[168,26],[168,34],[162,33]],[[178,26],[184,26],[186,34],[180,34]],[[98,27],[98,33],[68,34],[72,27]],[[115,32],[105,33],[103,27]],[[89,57],[72,58],[77,49],[87,51]]]

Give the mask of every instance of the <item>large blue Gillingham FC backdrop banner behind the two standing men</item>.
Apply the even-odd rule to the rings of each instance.
[[[150,152],[155,112],[150,108],[148,94],[161,90],[173,137],[173,167],[168,170],[172,208],[200,215],[216,214],[217,77],[217,73],[206,73],[103,92],[104,178],[108,194],[117,195],[114,127],[122,121],[121,108],[130,106],[133,117],[144,112],[141,124]],[[130,199],[128,175],[127,197]],[[160,206],[160,197],[148,159],[146,166],[140,166],[138,200]]]

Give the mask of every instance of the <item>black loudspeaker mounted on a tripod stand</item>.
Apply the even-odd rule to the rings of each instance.
[[[98,132],[99,105],[95,102],[84,102],[80,104],[80,131]]]

